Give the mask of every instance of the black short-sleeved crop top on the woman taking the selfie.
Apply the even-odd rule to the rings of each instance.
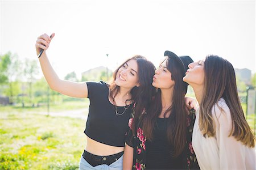
[[[84,133],[94,141],[111,146],[124,146],[125,135],[129,130],[128,121],[131,118],[131,108],[117,107],[109,101],[109,86],[105,82],[86,82],[88,98],[90,99],[89,113]]]

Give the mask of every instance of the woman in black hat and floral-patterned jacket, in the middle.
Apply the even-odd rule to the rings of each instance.
[[[153,78],[158,92],[151,106],[130,120],[123,169],[198,168],[191,146],[195,110],[186,108],[187,83],[182,80],[193,61],[170,51],[164,56]]]

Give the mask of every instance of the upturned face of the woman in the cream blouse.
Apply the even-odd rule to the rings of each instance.
[[[203,86],[204,85],[204,61],[192,62],[188,65],[187,70],[183,80],[189,85],[193,86]]]

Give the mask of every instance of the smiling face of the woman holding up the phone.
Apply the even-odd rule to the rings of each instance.
[[[115,84],[124,88],[139,86],[138,63],[135,59],[130,59],[118,69]]]

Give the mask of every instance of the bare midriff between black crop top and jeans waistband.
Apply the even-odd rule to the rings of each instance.
[[[87,144],[85,150],[93,155],[108,156],[122,152],[125,147],[110,146],[104,143],[94,141],[93,139],[86,137]]]

